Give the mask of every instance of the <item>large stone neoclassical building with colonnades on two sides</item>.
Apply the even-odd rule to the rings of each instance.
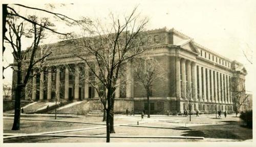
[[[152,49],[148,56],[157,58],[168,69],[166,80],[152,85],[154,91],[150,105],[153,112],[182,112],[188,109],[189,101],[192,111],[214,112],[216,107],[223,111],[233,110],[232,89],[239,91],[245,85],[247,73],[242,64],[199,45],[174,29],[161,28],[147,33],[147,46]],[[25,91],[32,91],[26,92],[25,99],[51,100],[59,97],[67,101],[98,102],[98,94],[93,87],[72,74],[73,71],[82,71],[81,60],[74,52],[79,53],[80,50],[56,43],[46,61],[50,63],[47,71],[33,71],[37,75],[30,80],[31,86],[28,85]],[[40,56],[40,50],[37,56]],[[125,90],[116,90],[115,111],[126,108],[141,111],[146,109],[146,97],[142,87],[134,82],[132,64],[127,66],[131,67],[127,68],[127,78],[132,82],[125,84]],[[24,70],[26,72],[26,68]],[[15,75],[13,72],[13,86]]]

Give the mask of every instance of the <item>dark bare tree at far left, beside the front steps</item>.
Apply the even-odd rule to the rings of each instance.
[[[36,16],[29,16],[30,20],[40,23],[44,26],[52,26],[53,24],[47,18],[38,19]],[[10,44],[10,48],[13,51],[14,63],[10,66],[17,73],[17,81],[15,87],[15,112],[14,112],[14,123],[12,130],[19,130],[19,118],[20,118],[20,99],[24,97],[22,91],[31,78],[32,68],[39,63],[44,62],[45,58],[51,54],[51,51],[44,50],[40,53],[36,52],[39,43],[46,37],[44,27],[32,24],[31,28],[27,30],[26,22],[19,22],[17,17],[8,17],[7,24],[9,26],[9,36],[5,37],[6,43]],[[22,37],[33,37],[33,43],[26,51],[22,51]],[[35,54],[40,56],[34,59]],[[25,62],[26,58],[28,61]],[[22,76],[22,69],[27,65],[28,69],[25,76]]]

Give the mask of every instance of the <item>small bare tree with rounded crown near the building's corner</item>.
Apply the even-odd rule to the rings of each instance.
[[[153,57],[137,58],[134,60],[135,82],[143,86],[147,98],[147,117],[150,118],[150,97],[153,96],[153,83],[157,80],[164,80],[166,70]]]

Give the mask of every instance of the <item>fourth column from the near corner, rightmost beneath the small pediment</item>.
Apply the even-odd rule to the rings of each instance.
[[[195,101],[198,101],[197,98],[197,69],[196,63],[191,63],[191,76],[192,76],[192,98]]]

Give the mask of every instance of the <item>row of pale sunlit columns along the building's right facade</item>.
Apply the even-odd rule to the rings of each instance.
[[[191,97],[194,101],[231,104],[230,76],[200,66],[197,70],[195,62],[177,57],[176,97],[180,100]]]

